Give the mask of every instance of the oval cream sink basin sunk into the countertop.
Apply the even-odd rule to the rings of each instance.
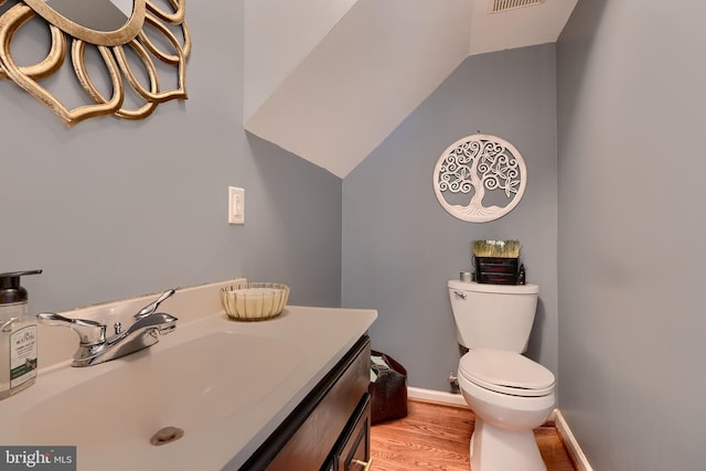
[[[199,433],[253,407],[297,365],[280,341],[228,332],[145,350],[122,367],[69,387],[29,409],[22,430],[39,443],[78,450],[149,445],[163,427]]]

